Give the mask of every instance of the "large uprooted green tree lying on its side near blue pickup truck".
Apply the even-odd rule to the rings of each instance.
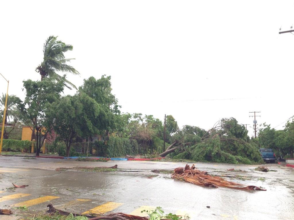
[[[234,118],[221,119],[210,130],[184,126],[173,135],[173,143],[161,153],[174,158],[220,163],[261,162],[258,146],[247,136],[248,131]]]

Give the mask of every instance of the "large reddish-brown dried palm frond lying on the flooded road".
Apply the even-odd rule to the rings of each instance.
[[[190,182],[195,185],[199,186],[206,186],[206,187],[228,187],[233,189],[245,189],[245,190],[264,190],[266,189],[260,189],[256,186],[245,186],[240,183],[236,182],[230,182],[227,180],[224,180],[221,177],[218,176],[211,176],[208,175],[205,171],[200,171],[195,169],[194,164],[190,168],[190,166],[187,164],[186,167],[178,167],[174,170],[174,173],[171,175],[171,178]]]

